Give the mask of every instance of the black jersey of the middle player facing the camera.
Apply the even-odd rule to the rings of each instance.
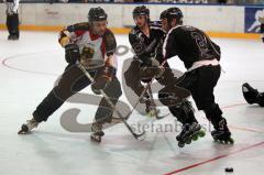
[[[150,23],[150,36],[146,36],[139,26],[131,30],[129,41],[135,55],[142,61],[155,57],[158,61],[163,58],[162,45],[165,39],[165,32],[157,22]]]

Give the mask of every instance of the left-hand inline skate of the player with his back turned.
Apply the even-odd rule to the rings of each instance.
[[[183,125],[183,130],[176,136],[176,140],[178,141],[178,146],[184,147],[185,144],[190,144],[191,141],[197,141],[205,135],[206,132],[201,129],[200,124],[193,122]]]

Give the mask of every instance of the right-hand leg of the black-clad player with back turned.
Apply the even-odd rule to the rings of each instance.
[[[198,83],[197,88],[193,92],[197,108],[204,110],[206,117],[211,121],[215,130],[211,135],[215,140],[223,142],[233,142],[231,132],[228,128],[226,118],[222,117],[222,111],[215,101],[213,89],[221,74],[220,66],[204,66],[197,69]]]

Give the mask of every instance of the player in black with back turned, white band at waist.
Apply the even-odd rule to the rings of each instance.
[[[176,85],[190,90],[199,110],[204,110],[215,130],[211,132],[217,141],[233,143],[227,120],[215,101],[213,89],[220,77],[220,47],[201,30],[183,25],[183,13],[178,8],[169,8],[162,12],[162,26],[167,31],[163,45],[165,59],[178,56],[187,72]],[[176,139],[179,146],[189,143],[194,134],[200,130],[195,116],[182,119],[183,131]]]

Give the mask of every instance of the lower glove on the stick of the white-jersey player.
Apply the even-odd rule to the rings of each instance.
[[[108,84],[112,80],[112,77],[116,75],[117,69],[111,66],[105,66],[100,68],[96,75],[95,83],[91,84],[91,90],[96,95],[100,95]]]

